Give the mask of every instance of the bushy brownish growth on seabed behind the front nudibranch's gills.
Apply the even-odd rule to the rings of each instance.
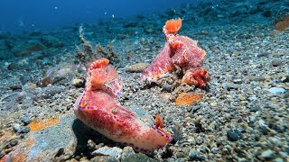
[[[86,67],[89,67],[89,64],[98,58],[108,58],[112,60],[113,63],[117,62],[117,54],[113,50],[112,41],[107,44],[107,50],[104,49],[101,45],[98,45],[96,48],[92,47],[89,40],[84,38],[83,27],[79,27],[79,39],[81,42],[81,48],[77,46],[78,53],[75,55],[76,58]]]

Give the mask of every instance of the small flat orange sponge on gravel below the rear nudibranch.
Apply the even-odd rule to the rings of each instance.
[[[200,101],[200,94],[188,94],[181,93],[178,94],[178,97],[175,99],[174,103],[177,105],[191,105],[192,103],[198,103]]]

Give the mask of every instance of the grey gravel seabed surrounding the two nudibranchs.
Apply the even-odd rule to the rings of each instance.
[[[282,1],[251,5],[236,3],[240,5],[236,6],[226,1],[218,5],[203,4],[202,10],[185,5],[182,10],[167,11],[162,15],[116,18],[104,21],[104,26],[86,26],[86,38],[96,44],[114,40],[116,33],[126,36],[113,42],[114,51],[119,56],[114,66],[125,84],[119,103],[132,109],[141,107],[153,116],[160,114],[164,129],[173,134],[168,146],[148,155],[135,153],[132,148],[113,141],[107,142],[74,118],[68,118],[74,116],[71,107],[83,92],[86,78],[82,67],[76,68],[73,64],[76,60],[72,54],[79,40],[75,32],[78,27],[70,26],[55,33],[31,33],[51,34],[64,43],[65,49],[51,47],[47,52],[49,55],[46,51],[29,52],[29,59],[0,59],[1,147],[2,143],[7,144],[3,141],[11,141],[14,134],[18,138],[16,145],[14,142],[10,144],[14,145],[12,148],[1,149],[0,157],[27,148],[23,154],[28,155],[32,149],[31,157],[34,157],[47,151],[41,157],[51,161],[55,152],[64,148],[68,154],[61,155],[60,159],[116,160],[111,156],[89,157],[94,149],[106,146],[121,148],[121,161],[286,161],[289,155],[288,31],[276,31],[272,25],[274,17],[261,16],[265,12],[261,11],[262,8],[274,15],[277,8],[282,8],[278,3]],[[228,5],[234,5],[235,10],[224,8]],[[247,6],[260,7],[251,9]],[[223,10],[227,12],[221,12]],[[170,96],[163,97],[171,93],[174,85],[144,86],[139,84],[140,73],[126,73],[126,67],[154,59],[163,48],[163,23],[172,17],[185,17],[180,34],[198,40],[198,45],[207,52],[203,67],[210,74],[210,85],[206,88],[182,88],[202,95],[200,102],[190,107],[177,106],[167,100]],[[35,40],[41,36],[8,34],[3,39],[7,40],[5,42],[13,40],[12,44],[16,46],[22,44],[23,39]],[[64,55],[66,52],[71,55]],[[43,62],[42,58],[50,60],[49,63]],[[72,70],[64,70],[64,73],[63,62],[68,66],[65,69]],[[43,88],[37,87],[36,83],[43,74],[55,67],[59,70],[52,70],[53,74],[61,76],[61,80]],[[22,88],[10,89],[14,85],[22,85]],[[34,118],[40,121],[59,118],[65,123],[30,132],[29,123]],[[154,118],[149,119],[149,123],[154,125]],[[29,148],[25,143],[33,138],[35,143],[33,148]],[[79,143],[70,146],[70,141]],[[78,155],[73,157],[76,152]]]

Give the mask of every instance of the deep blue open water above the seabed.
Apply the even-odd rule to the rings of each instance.
[[[135,14],[159,14],[190,0],[1,0],[0,31],[33,31],[97,23]]]

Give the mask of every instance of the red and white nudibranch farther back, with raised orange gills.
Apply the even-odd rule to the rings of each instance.
[[[165,44],[163,50],[154,58],[149,67],[144,69],[142,83],[157,83],[158,79],[175,70],[182,69],[182,82],[189,85],[208,85],[210,76],[205,68],[201,68],[206,52],[197,46],[196,40],[178,34],[182,27],[182,19],[172,19],[163,26]]]

